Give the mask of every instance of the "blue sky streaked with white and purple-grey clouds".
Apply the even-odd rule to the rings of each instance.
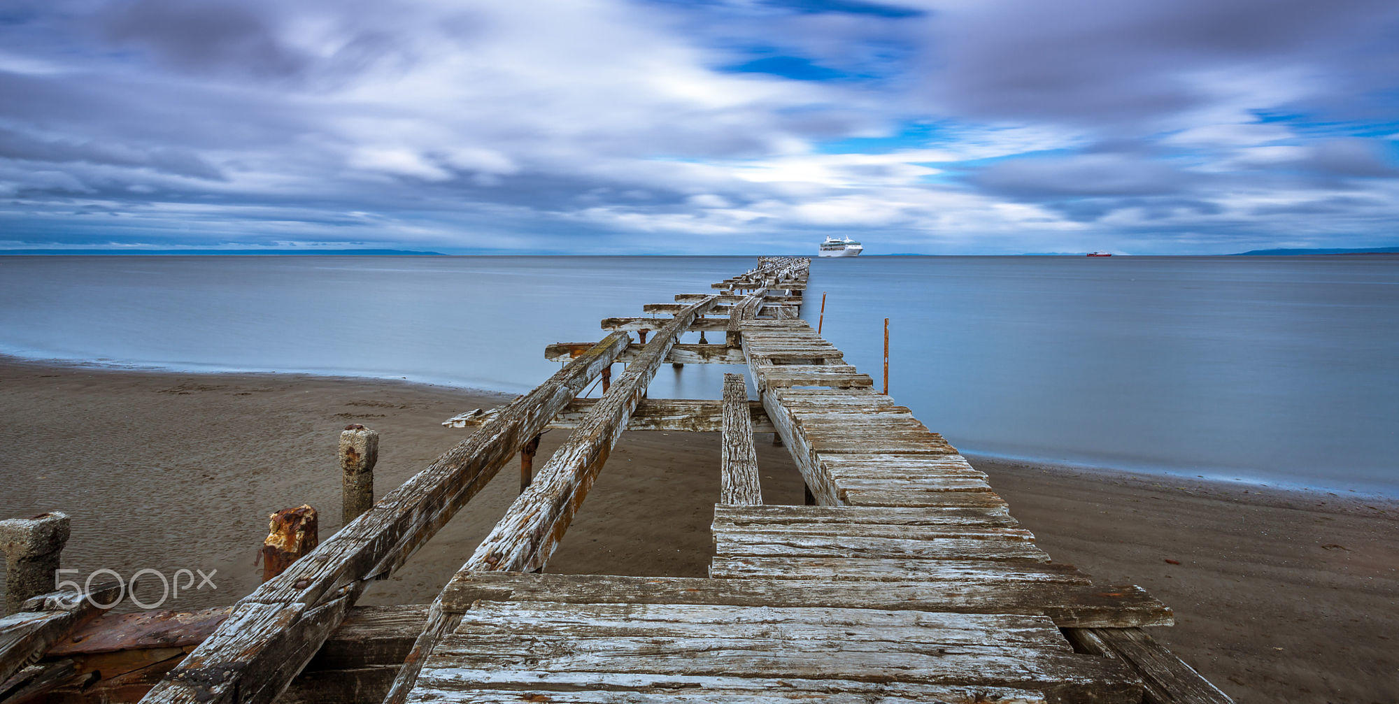
[[[1399,244],[1393,0],[6,0],[0,249]]]

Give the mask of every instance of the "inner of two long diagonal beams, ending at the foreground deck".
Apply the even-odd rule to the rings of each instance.
[[[564,539],[564,532],[568,531],[578,507],[588,497],[588,490],[602,472],[613,446],[627,429],[627,420],[645,395],[646,386],[656,376],[656,369],[670,355],[680,334],[698,316],[712,309],[715,300],[715,296],[709,296],[694,303],[656,330],[656,335],[641,355],[627,365],[621,379],[603,394],[569,433],[568,440],[550,455],[534,482],[520,492],[457,574],[480,570],[544,569],[558,542]],[[383,700],[385,704],[407,701],[422,661],[457,622],[460,615],[443,609],[438,596],[438,601],[432,602],[422,634],[413,644],[413,652],[409,654]]]

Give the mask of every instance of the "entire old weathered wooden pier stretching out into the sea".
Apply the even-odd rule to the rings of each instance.
[[[982,472],[799,317],[809,265],[761,258],[603,320],[599,342],[550,345],[557,374],[448,420],[474,432],[376,503],[378,436],[348,429],[357,517],[227,609],[25,602],[0,630],[0,703],[1230,701],[1147,634],[1170,609],[1052,562]],[[648,398],[667,362],[743,365],[757,401],[743,374],[718,401]],[[534,468],[546,429],[569,434]],[[544,573],[628,429],[719,433],[709,578]],[[764,503],[755,432],[790,451],[807,506]],[[354,606],[516,454],[519,497],[431,605]]]

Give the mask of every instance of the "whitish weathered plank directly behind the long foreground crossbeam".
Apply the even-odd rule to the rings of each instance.
[[[709,577],[832,581],[928,581],[1004,584],[1091,584],[1072,564],[996,560],[915,560],[902,557],[715,557]]]

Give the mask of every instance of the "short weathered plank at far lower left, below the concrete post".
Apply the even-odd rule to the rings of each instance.
[[[34,663],[88,619],[115,605],[120,594],[122,587],[112,582],[92,585],[90,591],[56,591],[24,601],[21,610],[0,619],[0,683]]]

